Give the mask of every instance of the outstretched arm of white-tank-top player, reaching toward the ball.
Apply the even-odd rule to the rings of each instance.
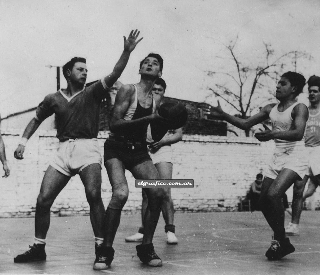
[[[266,119],[269,118],[269,113],[271,109],[274,107],[275,104],[268,104],[265,107],[263,107],[259,113],[247,118],[247,119],[242,119],[235,117],[233,115],[229,115],[228,113],[224,112],[221,109],[219,100],[218,100],[218,106],[211,107],[207,111],[209,111],[212,115],[221,117],[223,120],[228,121],[230,124],[242,129],[250,129],[252,126],[261,123],[265,121]]]

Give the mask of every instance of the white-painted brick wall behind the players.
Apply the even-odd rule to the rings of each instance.
[[[34,216],[44,171],[56,149],[55,131],[37,131],[30,138],[24,159],[17,161],[13,152],[20,141],[21,130],[3,132],[11,175],[0,178],[0,217]],[[100,132],[101,154],[108,132]],[[173,179],[194,179],[194,188],[172,188],[175,210],[236,211],[240,196],[245,196],[255,175],[265,169],[273,143],[254,138],[184,135],[173,147]],[[141,189],[126,171],[130,195],[124,211],[137,212],[141,206]],[[287,191],[292,200],[292,188]],[[111,188],[102,167],[102,197],[105,206]],[[319,194],[316,196],[319,207]],[[84,187],[79,176],[70,180],[52,206],[53,215],[84,215],[89,213]]]

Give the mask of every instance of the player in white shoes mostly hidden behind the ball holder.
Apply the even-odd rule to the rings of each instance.
[[[158,78],[153,85],[152,93],[155,98],[159,98],[160,102],[164,97],[167,85],[162,78]],[[172,179],[172,149],[171,144],[177,143],[182,139],[182,128],[173,130],[172,135],[165,135],[161,140],[154,141],[151,135],[151,128],[148,125],[147,142],[149,145],[149,155],[156,166],[160,179]],[[167,243],[170,245],[178,244],[178,239],[175,236],[174,208],[171,198],[171,188],[163,188],[164,199],[161,204],[161,211],[165,221],[164,231],[167,235]],[[141,206],[141,221],[142,225],[138,233],[125,238],[126,242],[140,242],[143,238],[143,220],[148,205],[148,197],[144,189],[142,189],[142,206]]]

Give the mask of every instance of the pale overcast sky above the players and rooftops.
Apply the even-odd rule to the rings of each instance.
[[[263,42],[275,55],[308,52],[313,59],[298,64],[308,79],[320,75],[319,10],[318,0],[0,0],[0,113],[36,107],[54,93],[56,69],[48,65],[81,56],[87,59],[87,82],[108,75],[132,29],[143,39],[119,80],[139,82],[140,61],[159,53],[166,96],[203,102],[205,71],[229,69],[217,56],[226,56],[223,44],[237,36],[236,54],[252,63],[263,56]],[[66,87],[62,73],[60,79]]]

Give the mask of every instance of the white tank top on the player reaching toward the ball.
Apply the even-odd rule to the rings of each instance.
[[[276,104],[270,111],[269,117],[272,123],[272,130],[276,132],[285,132],[294,129],[293,119],[291,112],[293,108],[299,104],[298,102],[292,104],[288,109],[283,112],[278,111],[279,104]],[[288,141],[275,138],[276,147],[286,147],[286,146],[303,146],[304,147],[305,134],[302,140],[298,141]]]

